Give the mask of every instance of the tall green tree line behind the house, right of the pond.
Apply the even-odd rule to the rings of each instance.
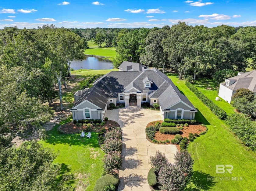
[[[217,70],[245,71],[249,58],[256,69],[256,28],[193,27],[179,22],[161,29],[120,31],[116,52],[115,67],[126,60],[148,67],[171,67],[179,71],[180,79],[184,74],[194,79],[213,77]]]

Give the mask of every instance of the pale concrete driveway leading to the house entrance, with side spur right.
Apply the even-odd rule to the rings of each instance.
[[[160,111],[121,108],[107,110],[104,117],[117,121],[123,130],[123,165],[119,170],[118,190],[150,190],[147,181],[150,156],[159,150],[165,153],[169,162],[173,162],[177,151],[175,145],[152,144],[146,139],[145,128],[151,121],[162,120]]]

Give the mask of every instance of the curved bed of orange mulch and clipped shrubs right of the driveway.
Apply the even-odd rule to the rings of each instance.
[[[181,120],[181,122],[183,121]],[[205,134],[207,131],[207,127],[204,124],[199,124],[194,120],[185,122],[191,122],[192,124],[177,123],[176,127],[173,127],[175,126],[173,122],[150,122],[146,127],[147,139],[156,144],[176,145],[178,150],[185,149],[188,141],[193,141],[194,138]],[[168,125],[169,127],[166,127]]]

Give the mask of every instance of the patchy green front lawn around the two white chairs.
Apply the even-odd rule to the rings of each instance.
[[[61,124],[67,121],[71,121],[71,118]],[[54,163],[62,164],[62,172],[73,173],[74,178],[70,182],[72,186],[92,190],[103,171],[104,153],[98,145],[98,133],[92,132],[91,138],[80,138],[80,134],[60,133],[57,131],[59,125],[47,131],[48,138],[39,143],[52,148],[56,153],[59,152]]]

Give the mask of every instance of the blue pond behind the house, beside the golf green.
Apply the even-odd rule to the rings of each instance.
[[[82,69],[106,70],[113,69],[113,63],[110,60],[85,56],[84,60],[72,61],[70,67],[74,70],[79,70],[81,67]]]

